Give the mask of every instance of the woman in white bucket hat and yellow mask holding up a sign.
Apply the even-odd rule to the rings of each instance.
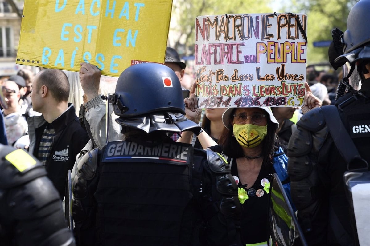
[[[305,87],[303,112],[321,107],[322,102],[313,96],[307,83]],[[195,87],[192,87],[191,93],[195,93]],[[199,118],[195,94],[184,102],[188,118]],[[267,245],[269,182],[273,173],[286,175],[285,146],[277,142],[275,137],[279,123],[271,109],[266,107],[228,108],[222,115],[222,122],[225,129],[219,138],[219,145],[205,132],[199,134],[198,139],[203,148],[208,147],[220,153],[231,166],[243,207],[240,230],[242,243]],[[190,141],[185,134],[188,133],[183,133],[182,142]]]

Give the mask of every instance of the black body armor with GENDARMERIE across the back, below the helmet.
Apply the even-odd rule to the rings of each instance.
[[[80,245],[238,242],[236,184],[222,157],[207,152],[176,142],[115,141],[87,153],[73,190]]]

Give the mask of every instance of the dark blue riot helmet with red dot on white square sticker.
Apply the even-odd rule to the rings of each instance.
[[[141,63],[125,69],[118,78],[111,103],[120,118],[164,111],[185,114],[178,77],[171,68],[158,63]]]

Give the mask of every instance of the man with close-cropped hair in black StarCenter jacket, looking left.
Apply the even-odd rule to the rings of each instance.
[[[29,152],[36,156],[63,199],[67,170],[89,137],[81,127],[72,104],[68,104],[70,85],[65,73],[44,69],[32,83],[33,110],[41,116],[29,117]]]

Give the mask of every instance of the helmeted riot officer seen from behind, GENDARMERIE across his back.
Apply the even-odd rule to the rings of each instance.
[[[181,85],[164,65],[122,72],[108,97],[125,139],[84,155],[73,181],[79,245],[240,245],[238,188],[211,150],[167,132],[200,127],[186,119]]]

